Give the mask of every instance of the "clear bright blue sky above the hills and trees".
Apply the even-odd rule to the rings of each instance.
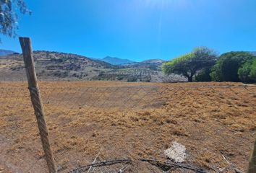
[[[256,0],[25,0],[21,36],[34,50],[169,60],[200,45],[256,51]],[[2,37],[2,35],[1,35]],[[20,52],[16,39],[0,48]]]

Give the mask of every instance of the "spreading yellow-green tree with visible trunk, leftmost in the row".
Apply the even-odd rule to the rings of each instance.
[[[197,71],[213,66],[216,58],[217,53],[214,50],[199,47],[191,53],[163,63],[162,69],[164,74],[181,74],[187,78],[187,81],[192,81]]]

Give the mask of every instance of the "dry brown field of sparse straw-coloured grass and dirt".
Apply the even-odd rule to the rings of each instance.
[[[189,167],[247,170],[256,137],[255,85],[41,81],[39,86],[59,172],[91,164],[99,153],[97,161],[132,159],[126,172],[163,172],[138,160],[171,161],[164,150],[175,141],[186,147],[182,164]],[[27,84],[0,82],[0,96],[0,172],[47,172]]]

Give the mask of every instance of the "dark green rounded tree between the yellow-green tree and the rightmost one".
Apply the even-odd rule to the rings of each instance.
[[[247,52],[229,52],[223,53],[210,74],[213,81],[240,81],[238,69],[242,64],[251,58]]]

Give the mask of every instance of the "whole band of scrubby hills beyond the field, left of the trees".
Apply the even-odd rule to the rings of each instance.
[[[35,68],[40,80],[171,81],[180,76],[164,76],[161,62],[149,61],[132,66],[114,66],[104,61],[72,53],[34,51]],[[25,79],[21,54],[0,56],[0,81]]]

